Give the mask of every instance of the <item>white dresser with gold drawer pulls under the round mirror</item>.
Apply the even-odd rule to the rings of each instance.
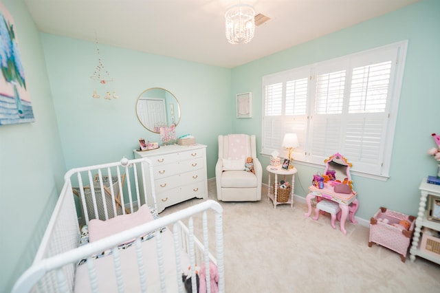
[[[153,162],[158,213],[167,206],[193,197],[208,197],[206,145],[175,144],[160,146],[159,149],[152,151],[134,151],[134,153],[136,159],[148,158]],[[149,176],[148,168],[145,170],[146,176]],[[146,182],[150,181],[146,180]],[[151,194],[148,194],[148,202],[152,202],[151,200]]]

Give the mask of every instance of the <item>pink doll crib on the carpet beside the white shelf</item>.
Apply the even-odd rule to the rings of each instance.
[[[389,248],[400,254],[401,261],[405,262],[415,219],[381,207],[370,219],[369,247],[376,243]]]

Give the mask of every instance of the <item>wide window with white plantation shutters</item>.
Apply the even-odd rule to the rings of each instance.
[[[298,135],[295,160],[342,153],[353,171],[388,177],[407,41],[263,76],[262,153]]]

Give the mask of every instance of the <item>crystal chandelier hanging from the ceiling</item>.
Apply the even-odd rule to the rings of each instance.
[[[249,43],[255,32],[255,10],[248,4],[237,4],[226,10],[226,39],[231,44]]]

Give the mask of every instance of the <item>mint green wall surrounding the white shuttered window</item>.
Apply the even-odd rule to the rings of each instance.
[[[234,131],[249,131],[261,137],[263,76],[408,39],[390,178],[382,182],[353,175],[353,183],[359,193],[358,217],[369,219],[380,206],[417,215],[421,178],[437,174],[436,161],[426,151],[435,146],[430,134],[440,133],[439,29],[440,1],[421,1],[236,67],[232,69],[232,93],[252,91],[254,118],[232,118]],[[262,157],[261,162],[267,165],[269,158]],[[295,194],[305,197],[312,175],[323,167],[297,162],[296,168]],[[267,173],[263,180],[267,182]]]

